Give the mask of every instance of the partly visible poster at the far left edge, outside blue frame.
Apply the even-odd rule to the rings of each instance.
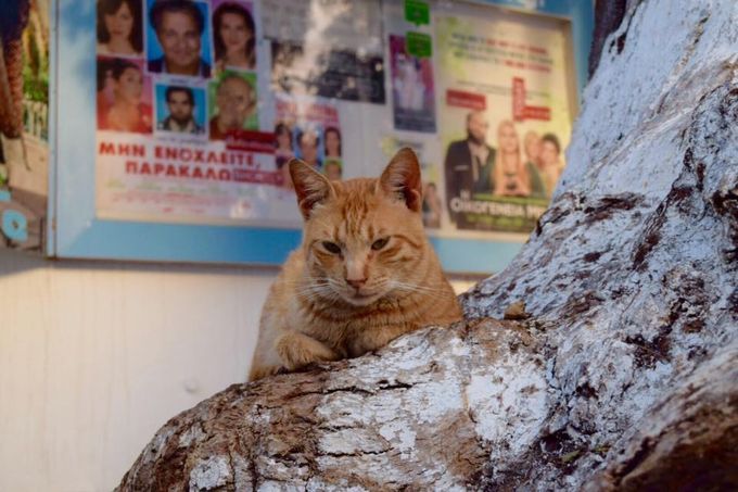
[[[49,181],[49,4],[0,14],[0,248],[42,251]]]

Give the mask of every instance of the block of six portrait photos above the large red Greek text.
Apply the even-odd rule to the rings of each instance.
[[[98,129],[227,140],[257,129],[252,4],[98,0]]]

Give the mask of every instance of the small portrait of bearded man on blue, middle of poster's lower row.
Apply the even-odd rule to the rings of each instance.
[[[207,117],[205,89],[156,84],[156,130],[205,136]]]

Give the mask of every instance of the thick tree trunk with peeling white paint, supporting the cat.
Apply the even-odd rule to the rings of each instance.
[[[119,490],[738,488],[738,5],[628,7],[550,209],[466,321],[232,386]]]

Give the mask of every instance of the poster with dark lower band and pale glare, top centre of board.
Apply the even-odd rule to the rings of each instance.
[[[379,0],[264,0],[271,90],[384,104]]]

